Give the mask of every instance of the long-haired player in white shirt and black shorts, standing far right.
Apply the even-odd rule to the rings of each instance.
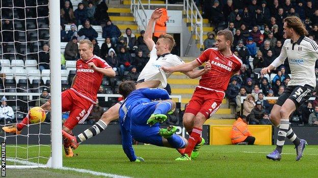
[[[308,100],[314,91],[316,86],[314,66],[318,58],[318,45],[305,37],[308,33],[298,17],[291,16],[284,19],[284,32],[287,40],[284,42],[280,55],[270,66],[261,70],[262,74],[270,73],[271,70],[283,64],[287,57],[292,73],[285,92],[278,98],[271,111],[271,121],[279,130],[276,149],[267,155],[267,158],[281,159],[282,147],[287,137],[295,144],[296,161],[299,161],[307,142],[299,139],[290,128],[289,115]]]

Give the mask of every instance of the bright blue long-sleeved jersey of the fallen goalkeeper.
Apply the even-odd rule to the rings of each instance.
[[[120,131],[122,137],[122,146],[125,154],[130,161],[135,161],[137,159],[134,149],[133,149],[133,138],[130,134],[130,115],[131,110],[134,107],[142,103],[149,103],[151,100],[168,100],[170,99],[169,94],[166,90],[161,88],[140,88],[131,92],[127,98],[124,100],[123,104],[119,108],[119,122],[120,122]],[[145,114],[152,114],[147,113]]]

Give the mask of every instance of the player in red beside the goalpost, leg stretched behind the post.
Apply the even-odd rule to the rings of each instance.
[[[77,124],[82,124],[96,104],[97,91],[103,76],[115,77],[115,72],[100,57],[93,54],[93,44],[89,40],[81,40],[78,47],[81,58],[76,62],[76,75],[70,89],[62,92],[62,112],[70,111],[69,118],[62,130],[71,133]],[[50,101],[41,106],[50,110]],[[7,133],[20,134],[22,128],[29,124],[28,115],[21,123],[2,129]],[[67,157],[72,157],[73,152],[69,142],[64,139],[64,150]]]

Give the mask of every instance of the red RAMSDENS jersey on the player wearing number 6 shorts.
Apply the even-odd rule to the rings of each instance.
[[[196,60],[199,64],[211,62],[211,70],[202,75],[199,86],[222,92],[226,91],[230,78],[242,66],[238,57],[234,54],[223,56],[218,48],[206,49]]]

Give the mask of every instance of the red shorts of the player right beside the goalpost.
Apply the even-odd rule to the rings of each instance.
[[[62,92],[62,112],[70,111],[64,125],[72,130],[77,124],[82,124],[93,108],[93,103],[78,96],[72,90]]]

